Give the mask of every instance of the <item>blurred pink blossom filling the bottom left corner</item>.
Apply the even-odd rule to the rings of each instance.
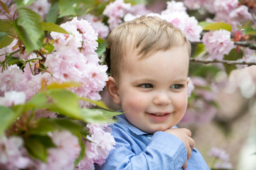
[[[0,167],[4,165],[6,169],[18,170],[26,169],[31,163],[31,159],[24,156],[26,149],[23,147],[21,137],[5,137],[0,138]],[[15,161],[14,161],[15,160]]]

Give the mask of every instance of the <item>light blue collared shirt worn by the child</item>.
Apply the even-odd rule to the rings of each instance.
[[[116,141],[115,149],[110,152],[105,164],[96,166],[95,169],[182,169],[187,157],[182,140],[168,132],[143,132],[131,125],[124,114],[115,118],[119,121],[110,126]],[[186,170],[192,169],[209,169],[197,149],[193,149],[191,159],[188,159]]]

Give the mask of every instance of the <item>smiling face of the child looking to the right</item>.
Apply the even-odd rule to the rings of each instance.
[[[127,58],[129,69],[120,72],[117,84],[119,103],[127,120],[144,132],[164,131],[176,125],[187,106],[186,45],[142,60],[135,52]]]

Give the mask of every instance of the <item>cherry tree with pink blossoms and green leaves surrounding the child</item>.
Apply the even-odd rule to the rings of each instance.
[[[107,123],[120,114],[100,101],[105,40],[137,16],[173,23],[191,42],[190,97],[181,124],[223,121],[215,94],[224,86],[255,101],[255,1],[166,1],[158,13],[144,0],[0,4],[0,169],[94,169],[105,162],[114,148]],[[231,81],[231,72],[242,68],[253,71]],[[213,148],[210,155],[222,160],[212,168],[233,168],[223,150]]]

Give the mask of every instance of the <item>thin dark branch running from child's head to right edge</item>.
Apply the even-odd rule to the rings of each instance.
[[[223,64],[229,64],[229,65],[232,65],[232,64],[247,64],[247,65],[256,65],[256,62],[246,62],[246,61],[231,61],[231,60],[199,60],[199,59],[194,59],[194,58],[191,58],[190,59],[191,62],[200,62],[200,63],[203,63],[203,64],[210,64],[210,63],[223,63]]]

